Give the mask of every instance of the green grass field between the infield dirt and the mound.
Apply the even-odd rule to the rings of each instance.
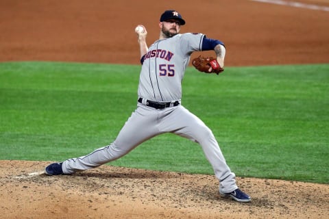
[[[0,63],[0,159],[62,161],[110,144],[136,108],[140,66]],[[189,67],[182,104],[239,177],[329,183],[329,64]],[[164,134],[115,166],[212,175],[201,148]]]

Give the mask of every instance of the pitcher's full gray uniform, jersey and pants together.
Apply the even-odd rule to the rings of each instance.
[[[212,131],[180,104],[184,71],[191,53],[202,50],[203,38],[203,34],[178,34],[154,42],[142,58],[137,108],[117,138],[93,153],[64,161],[64,174],[106,164],[154,136],[174,133],[202,146],[222,192],[238,188]]]

